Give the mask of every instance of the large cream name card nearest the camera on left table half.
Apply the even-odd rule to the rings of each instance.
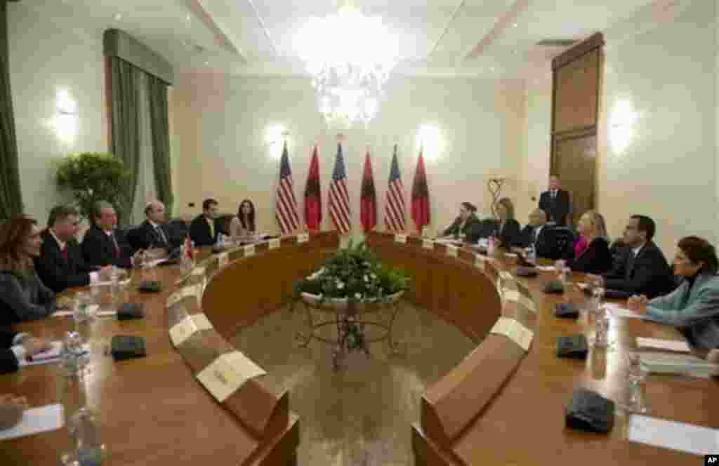
[[[262,367],[239,351],[220,355],[197,375],[217,401],[222,403],[251,378],[265,375]]]

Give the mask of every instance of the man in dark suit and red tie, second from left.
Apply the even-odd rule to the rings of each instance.
[[[55,206],[50,210],[47,229],[40,235],[40,257],[35,257],[35,270],[42,283],[55,293],[109,280],[111,266],[103,268],[88,265],[75,240],[80,216],[70,206]]]

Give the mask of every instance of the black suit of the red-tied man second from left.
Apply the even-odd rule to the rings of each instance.
[[[40,236],[42,247],[40,247],[40,257],[35,257],[35,270],[47,288],[60,293],[65,288],[90,284],[90,272],[98,268],[85,262],[80,246],[66,244],[65,257],[49,229]]]

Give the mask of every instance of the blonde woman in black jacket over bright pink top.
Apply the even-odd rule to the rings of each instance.
[[[572,270],[584,273],[606,273],[611,270],[613,260],[604,217],[596,211],[586,211],[580,216],[577,230],[585,238],[587,247],[572,260]]]

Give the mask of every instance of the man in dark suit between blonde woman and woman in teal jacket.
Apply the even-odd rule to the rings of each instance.
[[[636,294],[651,299],[674,290],[672,269],[652,241],[655,231],[654,220],[648,216],[631,216],[623,236],[628,250],[615,263],[613,270],[604,275],[608,291],[618,291],[615,293],[617,296]]]

